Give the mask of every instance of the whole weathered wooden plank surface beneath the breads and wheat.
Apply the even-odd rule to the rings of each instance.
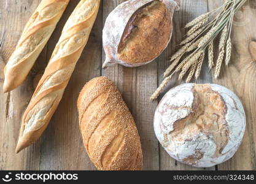
[[[26,21],[40,0],[0,1],[0,91],[4,81],[3,69],[20,38]],[[238,152],[229,161],[215,167],[195,168],[170,158],[161,148],[153,132],[153,113],[157,101],[150,95],[163,80],[168,63],[166,58],[177,49],[176,45],[185,34],[184,25],[193,18],[220,6],[223,0],[182,0],[181,9],[174,15],[174,34],[169,47],[156,61],[142,67],[126,68],[111,66],[101,69],[104,61],[101,35],[107,15],[121,0],[103,0],[98,18],[87,47],[82,53],[50,125],[36,144],[15,154],[21,116],[28,105],[52,54],[61,29],[79,0],[71,0],[47,46],[36,61],[28,79],[11,93],[0,92],[0,170],[91,170],[95,167],[88,159],[80,136],[76,101],[79,91],[88,80],[99,75],[112,79],[123,94],[141,136],[145,170],[256,170],[256,62],[253,63],[248,50],[250,40],[256,39],[256,1],[248,0],[246,6],[236,14],[232,33],[233,52],[230,66],[223,67],[220,79],[213,80],[212,72],[204,64],[198,83],[219,83],[235,91],[242,99],[247,115],[244,140]],[[207,63],[207,62],[205,62]],[[169,88],[178,85],[176,79]]]

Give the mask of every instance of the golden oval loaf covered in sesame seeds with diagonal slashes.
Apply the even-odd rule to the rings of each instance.
[[[97,169],[142,169],[136,125],[111,80],[106,77],[90,80],[80,92],[77,109],[83,144]]]

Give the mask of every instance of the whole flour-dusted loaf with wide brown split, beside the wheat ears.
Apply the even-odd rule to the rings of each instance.
[[[171,40],[177,2],[130,0],[117,6],[103,29],[103,67],[111,63],[136,67],[157,58]]]

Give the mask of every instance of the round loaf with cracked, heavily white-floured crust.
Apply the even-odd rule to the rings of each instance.
[[[241,144],[246,115],[227,88],[187,83],[171,89],[154,117],[160,144],[177,161],[211,167],[230,159]]]

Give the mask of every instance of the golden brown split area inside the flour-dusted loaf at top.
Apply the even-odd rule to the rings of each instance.
[[[153,1],[131,17],[118,46],[118,59],[144,63],[160,55],[169,42],[171,15],[166,5]]]

